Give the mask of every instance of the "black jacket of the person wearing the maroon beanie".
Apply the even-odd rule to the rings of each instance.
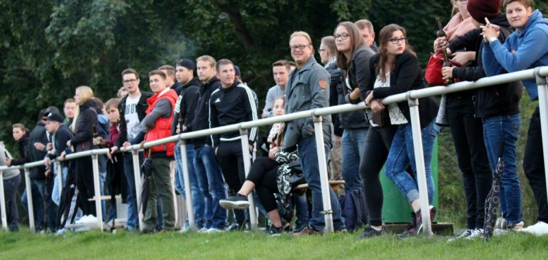
[[[504,42],[506,37],[512,34],[513,30],[508,23],[508,19],[506,19],[506,14],[499,14],[499,16],[490,19],[490,22],[501,28],[499,34],[501,42]],[[480,35],[481,33],[480,29],[473,29],[449,44],[451,51],[459,49],[475,51],[475,63],[472,66],[454,68],[453,78],[463,81],[476,81],[477,79],[486,77],[482,62],[484,39]],[[488,118],[519,113],[519,100],[522,93],[523,86],[521,82],[514,81],[477,90],[467,90],[464,93],[456,92],[451,94],[451,96],[475,94],[475,116],[478,118]]]

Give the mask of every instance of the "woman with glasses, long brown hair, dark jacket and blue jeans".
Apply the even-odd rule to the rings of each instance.
[[[365,88],[369,74],[369,58],[375,53],[366,47],[360,31],[350,22],[339,23],[334,31],[337,48],[338,68],[343,70],[343,89],[341,96],[355,89]],[[340,103],[345,103],[343,100]],[[342,113],[340,127],[344,129],[340,139],[343,154],[342,175],[346,192],[362,190],[362,180],[358,174],[359,162],[363,155],[362,144],[367,135],[369,123],[361,111]],[[343,216],[345,217],[345,216]]]

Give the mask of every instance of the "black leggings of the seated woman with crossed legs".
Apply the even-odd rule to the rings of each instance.
[[[276,182],[278,166],[279,164],[269,157],[259,157],[251,164],[247,175],[247,181],[255,183],[255,190],[266,212],[278,208],[274,197],[275,193],[279,193]]]

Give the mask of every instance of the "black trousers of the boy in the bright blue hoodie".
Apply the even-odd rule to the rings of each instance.
[[[538,107],[531,116],[525,153],[523,155],[523,171],[529,180],[531,190],[538,206],[537,221],[548,223],[548,201],[546,197],[546,176],[543,157],[543,137],[540,133],[540,114]]]

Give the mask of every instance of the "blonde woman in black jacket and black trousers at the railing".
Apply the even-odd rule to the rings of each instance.
[[[73,147],[75,152],[88,151],[95,146],[93,145],[93,133],[97,126],[97,112],[95,111],[95,101],[92,100],[93,91],[90,87],[81,86],[76,88],[74,99],[78,105],[76,115],[73,119],[72,131],[73,138],[66,143],[67,146]],[[95,213],[95,205],[89,198],[95,196],[93,185],[93,166],[90,156],[75,159],[76,164],[76,187],[79,192],[79,200],[81,202],[84,215],[97,216]]]

